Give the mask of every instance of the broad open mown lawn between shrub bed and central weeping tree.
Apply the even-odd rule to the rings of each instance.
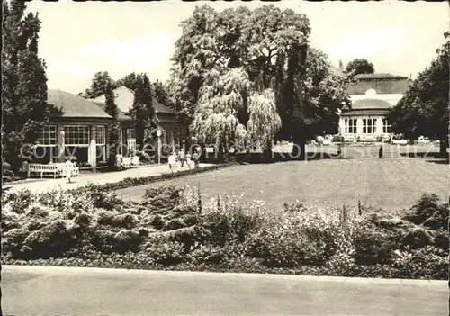
[[[448,165],[423,158],[316,159],[227,167],[193,176],[118,190],[125,200],[139,201],[146,188],[158,185],[200,185],[206,198],[241,195],[276,208],[296,200],[305,204],[347,204],[358,201],[389,210],[410,208],[423,193],[448,198]]]

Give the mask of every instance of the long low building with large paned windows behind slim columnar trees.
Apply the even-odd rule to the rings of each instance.
[[[126,153],[123,154],[127,154],[137,149],[134,122],[127,115],[134,95],[125,87],[115,89],[114,94],[119,110],[121,151],[125,150]],[[108,128],[113,119],[104,111],[104,96],[87,100],[80,95],[49,90],[48,103],[62,110],[62,116],[51,117],[50,123],[40,131],[34,149],[33,162],[60,163],[64,162],[67,156],[75,156],[77,164],[93,169],[99,164],[106,163],[109,144]],[[154,99],[153,106],[162,131],[161,143],[172,146],[181,145],[186,138],[187,127],[178,120],[175,111],[166,105]],[[157,138],[152,141],[157,146]]]

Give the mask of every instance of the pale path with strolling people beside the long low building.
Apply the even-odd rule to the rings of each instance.
[[[211,166],[211,164],[201,164],[200,167]],[[178,170],[187,170],[187,167],[178,168]],[[94,173],[94,174],[80,174],[73,178],[74,182],[67,184],[66,178],[58,179],[35,179],[28,180],[23,183],[4,185],[11,187],[8,191],[20,191],[23,189],[31,190],[34,193],[45,193],[53,189],[62,188],[63,190],[72,189],[80,186],[94,183],[95,185],[104,185],[106,183],[114,183],[123,180],[126,177],[143,177],[143,176],[159,176],[170,173],[167,164],[143,166],[137,168],[130,168],[122,171],[108,172],[108,173]]]

